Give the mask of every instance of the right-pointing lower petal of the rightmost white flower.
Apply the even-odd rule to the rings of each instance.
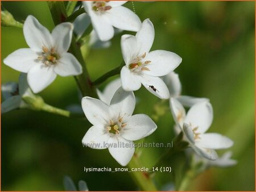
[[[209,149],[226,149],[232,147],[233,141],[218,133],[204,133],[200,135],[197,145]]]

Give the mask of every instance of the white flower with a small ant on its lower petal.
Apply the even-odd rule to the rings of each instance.
[[[122,87],[126,91],[135,91],[143,84],[152,94],[168,99],[169,90],[160,76],[172,72],[179,66],[181,58],[170,51],[150,52],[154,36],[154,26],[149,19],[144,20],[136,36],[122,36],[121,48],[126,64],[121,70]]]

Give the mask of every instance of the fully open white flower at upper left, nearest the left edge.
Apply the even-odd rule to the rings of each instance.
[[[30,48],[18,49],[3,62],[11,68],[27,73],[28,85],[38,93],[60,76],[75,76],[82,73],[76,57],[68,53],[73,26],[61,23],[52,33],[43,27],[34,16],[27,16],[23,33]]]

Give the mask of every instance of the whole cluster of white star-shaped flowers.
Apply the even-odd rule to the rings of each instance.
[[[210,160],[209,165],[233,165],[235,162],[229,160],[229,153],[216,160],[218,156],[214,151],[231,147],[233,141],[218,133],[206,133],[213,121],[209,99],[181,95],[181,83],[174,73],[181,57],[170,51],[150,51],[155,37],[152,22],[150,19],[141,22],[138,15],[122,6],[124,3],[126,1],[83,1],[86,13],[77,16],[73,24],[60,23],[51,33],[34,16],[27,16],[23,33],[30,48],[18,49],[3,60],[22,75],[19,85],[2,86],[6,99],[2,112],[26,107],[24,95],[33,97],[32,91],[39,93],[45,89],[57,74],[65,77],[82,73],[80,62],[69,52],[73,33],[78,40],[92,24],[89,46],[100,42],[101,47],[108,47],[115,31],[133,31],[135,35],[121,37],[125,66],[120,78],[103,92],[97,90],[100,99],[86,95],[82,98],[82,110],[93,125],[82,138],[82,144],[94,149],[108,148],[114,159],[126,166],[134,155],[133,141],[151,135],[157,128],[149,116],[133,115],[136,104],[133,91],[143,85],[156,97],[170,99],[175,131],[184,133],[183,139],[197,155]],[[189,107],[187,113],[184,107]]]

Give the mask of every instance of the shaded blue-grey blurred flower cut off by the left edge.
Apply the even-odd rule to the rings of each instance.
[[[22,101],[25,95],[32,96],[32,92],[27,85],[27,76],[21,73],[19,76],[19,84],[16,82],[7,82],[1,86],[2,96],[5,101],[1,104],[1,113],[5,113],[16,108],[26,108],[27,104]]]

